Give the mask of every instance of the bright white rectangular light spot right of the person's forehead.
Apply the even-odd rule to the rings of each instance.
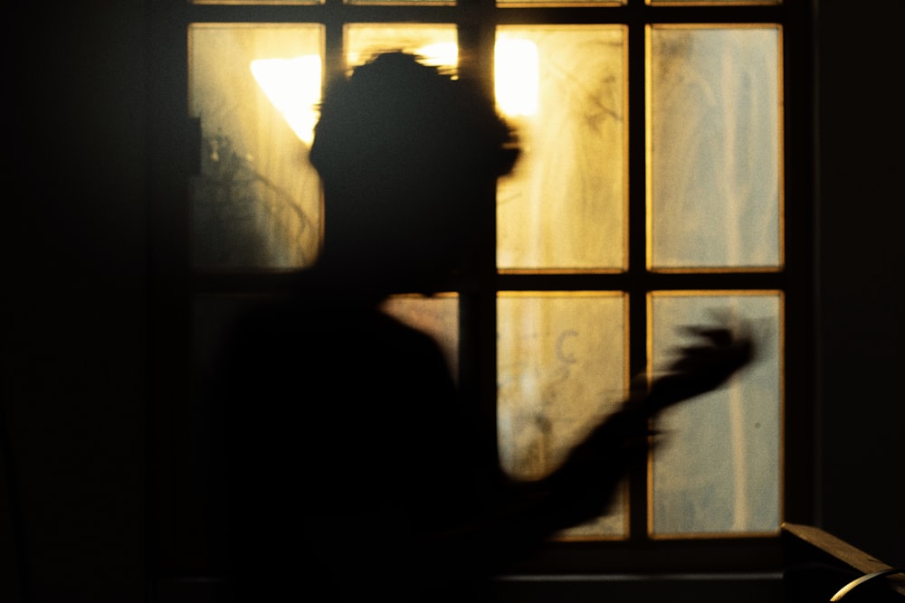
[[[494,78],[497,104],[510,117],[538,110],[538,47],[529,40],[497,41]]]

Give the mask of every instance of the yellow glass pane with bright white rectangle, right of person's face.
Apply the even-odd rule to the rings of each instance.
[[[498,187],[499,267],[624,268],[624,28],[501,26],[496,44],[523,148]]]

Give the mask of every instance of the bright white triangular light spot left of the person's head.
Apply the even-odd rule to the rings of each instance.
[[[302,142],[314,140],[320,102],[320,57],[252,61],[252,75]]]

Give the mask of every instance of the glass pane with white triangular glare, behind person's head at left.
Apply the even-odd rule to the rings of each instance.
[[[320,99],[320,25],[193,25],[190,113],[196,268],[295,268],[317,255],[320,184],[308,163]]]

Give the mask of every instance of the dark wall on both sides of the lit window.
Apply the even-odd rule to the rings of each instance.
[[[0,600],[23,595],[21,574],[37,601],[137,602],[149,385],[146,0],[28,4],[5,37],[13,102],[0,401],[11,449],[0,450]],[[898,564],[902,6],[819,6],[814,417],[820,522]]]

